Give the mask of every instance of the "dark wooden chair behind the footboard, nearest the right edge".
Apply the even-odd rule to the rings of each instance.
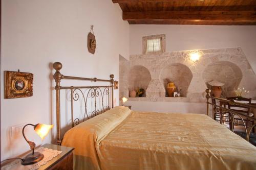
[[[238,101],[238,102],[241,102],[241,103],[251,104],[251,98],[230,97],[230,98],[227,98],[227,100],[235,100],[235,101]],[[236,104],[233,104],[233,105],[228,104],[228,109],[233,110],[233,111],[237,111],[239,113],[242,113],[243,115],[247,115],[247,116],[250,116],[250,117],[253,116],[253,113],[250,113],[250,108],[249,107],[238,106]],[[246,117],[242,117],[242,118],[246,122],[245,126],[248,127],[248,123],[250,122],[250,120]],[[234,119],[237,120],[238,125],[241,125],[241,124],[239,124],[239,120],[242,120],[242,119],[238,115],[234,115]]]

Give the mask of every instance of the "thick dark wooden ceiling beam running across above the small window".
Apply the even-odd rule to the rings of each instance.
[[[123,12],[123,20],[216,20],[256,22],[256,11],[147,11]]]

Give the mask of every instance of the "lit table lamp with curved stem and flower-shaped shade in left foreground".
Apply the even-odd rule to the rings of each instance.
[[[30,149],[32,150],[32,153],[28,154],[22,161],[23,165],[34,164],[44,158],[43,154],[41,154],[39,152],[34,152],[35,143],[32,141],[29,141],[24,134],[25,127],[27,127],[29,125],[34,127],[34,131],[41,137],[41,139],[44,139],[46,137],[46,135],[49,133],[50,129],[52,129],[52,127],[53,127],[53,125],[45,125],[45,124],[36,124],[36,125],[27,124],[23,127],[23,129],[22,129],[23,137],[29,143]]]

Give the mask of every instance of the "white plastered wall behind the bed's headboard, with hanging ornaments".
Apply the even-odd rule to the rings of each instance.
[[[87,49],[90,25],[96,35],[95,55]],[[63,64],[63,75],[109,79],[114,74],[118,79],[119,54],[129,58],[129,25],[111,0],[3,0],[1,82],[4,70],[17,69],[32,72],[34,82],[33,96],[20,99],[3,99],[1,83],[1,159],[29,150],[21,132],[10,135],[11,126],[56,125],[53,62]],[[55,141],[51,136],[56,126],[44,141],[28,129],[28,138],[37,145]]]

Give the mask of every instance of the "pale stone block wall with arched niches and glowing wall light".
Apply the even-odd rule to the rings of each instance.
[[[200,59],[197,62],[191,61],[189,59],[191,53],[199,53]],[[223,98],[234,95],[234,89],[238,87],[250,90],[245,96],[250,98],[256,96],[256,76],[239,47],[131,55],[129,65],[130,68],[143,66],[151,75],[146,98],[130,98],[129,100],[132,101],[205,102],[205,89],[207,83],[212,80],[226,83],[223,87]],[[126,71],[126,74],[129,74],[127,72],[130,71]],[[121,72],[119,76],[125,77]],[[178,89],[182,88],[182,98],[165,97],[166,78],[174,81]],[[120,77],[119,81],[119,96],[123,94],[128,97],[129,88],[133,86],[131,80],[126,81],[129,88],[121,87]]]

